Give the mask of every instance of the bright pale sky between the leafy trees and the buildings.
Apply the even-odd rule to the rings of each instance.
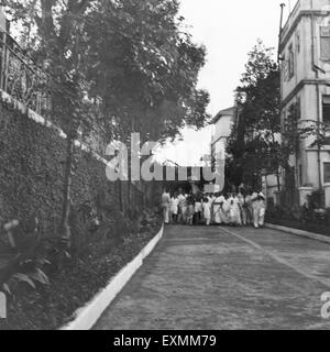
[[[210,94],[211,116],[233,106],[233,91],[257,38],[276,53],[282,2],[286,4],[286,18],[295,0],[180,0],[180,14],[194,41],[207,50],[207,64],[200,72],[198,87]],[[209,153],[211,134],[211,127],[199,132],[186,129],[184,141],[169,143],[160,153],[160,160],[196,165]]]

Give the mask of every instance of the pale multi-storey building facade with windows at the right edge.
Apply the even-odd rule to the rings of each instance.
[[[279,35],[283,129],[295,118],[299,125],[330,123],[330,1],[299,0]],[[330,143],[311,146],[315,136],[300,142],[284,172],[284,187],[295,188],[302,206],[308,195],[329,193]],[[330,207],[330,199],[320,202]]]

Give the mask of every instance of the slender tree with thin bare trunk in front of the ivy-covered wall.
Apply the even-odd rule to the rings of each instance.
[[[70,244],[69,207],[74,174],[74,140],[88,117],[84,102],[84,19],[92,9],[87,0],[25,0],[2,1],[12,21],[19,23],[28,52],[43,66],[50,77],[53,94],[53,114],[61,117],[67,134],[65,187],[61,233]]]

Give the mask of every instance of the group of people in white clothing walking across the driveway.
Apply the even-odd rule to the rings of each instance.
[[[169,194],[162,195],[164,222],[184,224],[264,226],[265,196],[262,193]]]

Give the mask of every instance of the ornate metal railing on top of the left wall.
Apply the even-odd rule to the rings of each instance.
[[[0,29],[0,89],[38,114],[52,108],[48,76]]]

